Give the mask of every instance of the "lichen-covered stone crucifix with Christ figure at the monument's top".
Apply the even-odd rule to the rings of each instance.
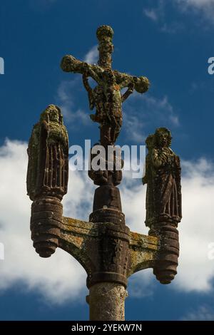
[[[91,114],[94,122],[100,123],[101,145],[113,145],[122,125],[122,103],[135,90],[138,93],[148,91],[149,81],[146,77],[130,76],[111,68],[113,53],[113,29],[110,26],[100,26],[96,31],[98,38],[98,65],[78,61],[71,55],[66,55],[61,61],[61,68],[66,72],[81,73],[83,85],[88,92],[90,109],[96,108],[96,114]],[[88,77],[96,81],[92,89]],[[121,89],[127,88],[122,95]]]

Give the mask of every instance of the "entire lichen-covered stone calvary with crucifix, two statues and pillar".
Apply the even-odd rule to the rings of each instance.
[[[97,30],[98,65],[64,56],[61,68],[81,73],[88,93],[91,120],[100,125],[99,145],[115,148],[122,125],[122,103],[133,91],[145,93],[146,77],[111,69],[113,30]],[[88,77],[96,81],[91,88]],[[121,89],[126,88],[125,93]],[[141,269],[153,268],[161,284],[169,284],[178,266],[178,222],[181,220],[180,160],[170,149],[171,135],[158,128],[146,139],[146,225],[148,235],[131,232],[122,212],[120,192],[123,160],[105,152],[104,168],[91,164],[88,176],[98,187],[88,222],[63,216],[61,200],[68,185],[68,133],[61,109],[49,105],[29,140],[27,172],[31,206],[31,238],[40,257],[50,257],[57,247],[65,250],[86,270],[90,320],[124,320],[128,278]],[[96,158],[91,148],[91,162]],[[107,150],[108,151],[108,150]],[[120,169],[116,160],[119,159]],[[111,160],[111,161],[109,161]],[[109,168],[109,163],[113,168]],[[56,269],[57,271],[57,269]],[[143,318],[143,316],[142,316]]]

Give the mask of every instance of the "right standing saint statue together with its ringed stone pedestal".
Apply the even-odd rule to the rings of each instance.
[[[159,256],[153,273],[162,284],[169,284],[177,273],[181,220],[180,159],[170,149],[171,134],[158,128],[146,139],[146,226],[148,234],[160,238]]]

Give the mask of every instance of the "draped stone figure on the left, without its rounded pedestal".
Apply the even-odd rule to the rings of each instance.
[[[68,134],[61,110],[49,105],[34,125],[28,148],[27,191],[31,200],[38,195],[63,197],[68,184]]]

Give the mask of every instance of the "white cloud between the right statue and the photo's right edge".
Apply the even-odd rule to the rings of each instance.
[[[214,276],[214,261],[208,259],[208,245],[214,242],[214,167],[201,159],[183,162],[183,170],[180,265],[173,286],[186,292],[208,292]]]

